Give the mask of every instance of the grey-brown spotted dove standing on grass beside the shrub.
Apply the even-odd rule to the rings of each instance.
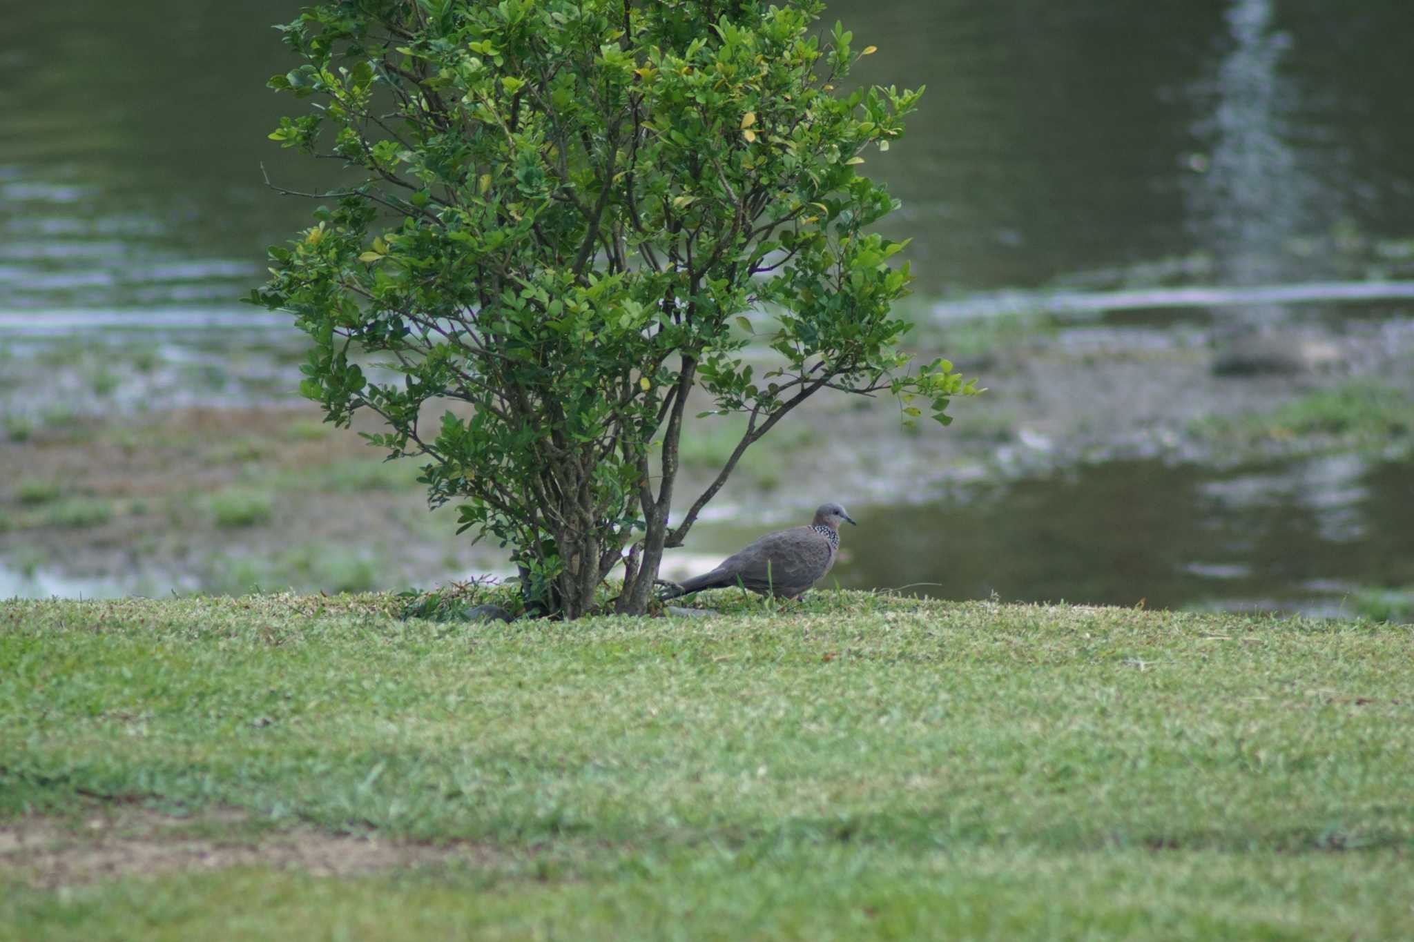
[[[840,521],[854,520],[839,504],[820,504],[809,527],[792,527],[766,534],[720,566],[672,586],[665,599],[744,586],[778,599],[795,599],[819,582],[834,565],[840,551]],[[855,524],[857,525],[857,524]]]

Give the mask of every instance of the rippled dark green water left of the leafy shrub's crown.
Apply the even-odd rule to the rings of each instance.
[[[263,82],[286,56],[269,24],[298,6],[6,8],[0,309],[229,305],[260,280],[263,246],[311,209],[259,169],[287,160]]]

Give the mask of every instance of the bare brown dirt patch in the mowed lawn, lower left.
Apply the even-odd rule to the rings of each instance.
[[[454,861],[489,864],[502,856],[468,843],[433,846],[312,828],[262,832],[239,809],[182,818],[123,808],[76,823],[42,815],[0,823],[0,878],[48,890],[173,870],[269,866],[352,876]]]

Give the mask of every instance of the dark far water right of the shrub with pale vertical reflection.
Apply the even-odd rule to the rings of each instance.
[[[867,167],[923,290],[1182,273],[1308,278],[1332,233],[1407,237],[1403,0],[841,0],[860,75],[928,85]],[[1189,260],[1191,263],[1191,260]]]

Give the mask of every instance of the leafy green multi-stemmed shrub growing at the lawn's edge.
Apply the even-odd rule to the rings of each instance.
[[[855,169],[921,92],[850,82],[877,48],[823,10],[324,0],[280,27],[303,62],[269,85],[315,100],[269,137],[361,172],[249,301],[314,342],[301,394],[426,458],[428,501],[509,547],[543,614],[595,609],[615,569],[618,612],[643,614],[663,549],[816,393],[888,391],[905,424],[946,425],[977,391],[899,349],[905,246],[872,232],[898,202]],[[677,514],[696,391],[751,419]]]

